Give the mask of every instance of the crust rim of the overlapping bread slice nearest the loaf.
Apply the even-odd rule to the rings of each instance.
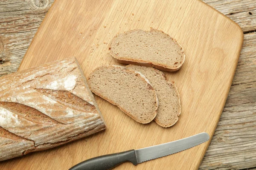
[[[112,66],[114,66],[114,67],[121,67],[121,68],[123,68],[123,69],[125,69],[125,70],[127,70],[127,71],[131,71],[131,70],[129,70],[129,69],[126,69],[124,66],[120,66],[120,65],[112,65]],[[97,68],[96,68],[96,69],[97,69]],[[132,72],[136,73],[135,71],[132,71]],[[148,79],[145,79],[145,78],[143,78],[143,77],[141,76],[141,73],[140,73],[140,77],[141,77],[148,85],[150,85],[150,86],[152,87],[152,85],[151,85],[150,83],[148,83],[148,82],[149,82]],[[145,77],[145,76],[144,76],[144,77]],[[90,84],[88,84],[88,85],[89,85],[89,88],[90,88]],[[152,87],[152,89],[154,89],[154,88]],[[154,94],[155,94],[155,97],[156,97],[155,100],[157,101],[157,108],[156,108],[156,110],[154,111],[153,118],[151,118],[149,122],[142,122],[142,121],[140,121],[139,119],[137,119],[136,117],[134,117],[134,116],[132,116],[131,114],[129,114],[128,111],[126,111],[124,108],[122,108],[121,106],[119,106],[118,104],[116,104],[115,102],[113,102],[111,99],[109,99],[109,98],[107,98],[107,97],[105,97],[105,96],[100,95],[100,94],[97,93],[96,91],[93,91],[92,88],[90,88],[90,90],[91,90],[94,94],[96,94],[97,96],[101,97],[102,99],[105,99],[105,100],[107,100],[108,102],[110,102],[111,104],[116,105],[121,111],[123,111],[125,114],[127,114],[128,116],[130,116],[130,117],[131,117],[132,119],[134,119],[136,122],[139,122],[139,123],[142,123],[142,124],[147,124],[147,123],[149,123],[149,122],[152,122],[152,120],[154,120],[155,116],[157,116],[157,108],[158,108],[159,103],[158,103],[158,98],[157,98],[157,94],[156,94],[155,91],[154,91]]]

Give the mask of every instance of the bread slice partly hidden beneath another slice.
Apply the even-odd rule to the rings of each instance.
[[[128,65],[126,68],[141,72],[153,85],[159,100],[155,122],[163,127],[174,125],[181,111],[180,96],[175,83],[167,81],[162,71],[155,68],[138,65]]]

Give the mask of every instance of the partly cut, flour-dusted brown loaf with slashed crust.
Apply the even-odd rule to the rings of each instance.
[[[0,77],[0,161],[105,128],[75,58]]]

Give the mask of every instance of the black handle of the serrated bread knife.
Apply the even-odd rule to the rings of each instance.
[[[128,150],[125,152],[91,158],[76,164],[69,170],[110,170],[126,161],[130,161],[134,165],[137,165],[135,150]]]

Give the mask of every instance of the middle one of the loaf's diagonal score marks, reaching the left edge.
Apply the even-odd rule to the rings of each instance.
[[[11,111],[12,113],[22,116],[23,119],[26,119],[30,122],[44,125],[61,124],[61,122],[58,122],[55,119],[52,119],[44,113],[36,110],[35,108],[27,105],[16,102],[0,102],[0,106],[8,111]]]

